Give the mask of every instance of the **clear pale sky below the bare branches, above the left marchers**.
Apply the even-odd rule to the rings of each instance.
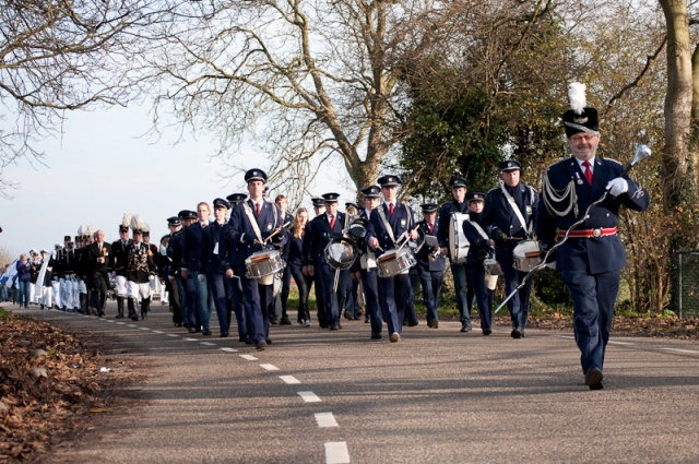
[[[61,140],[42,144],[46,166],[22,160],[8,167],[3,177],[21,187],[9,192],[12,200],[0,199],[0,246],[17,253],[52,249],[64,235],[74,237],[81,224],[102,228],[107,240],[116,240],[126,212],[141,214],[152,238],[159,239],[167,233],[167,217],[178,211],[247,191],[241,175],[218,178],[222,163],[211,158],[217,145],[205,134],[177,145],[169,143],[173,134],[156,143],[139,138],[150,128],[147,112],[146,107],[134,106],[69,114]],[[268,166],[263,155],[251,150],[236,163],[246,168]],[[354,199],[347,176],[337,175],[342,171],[337,165],[325,167],[311,191]],[[277,193],[284,192],[272,191]]]

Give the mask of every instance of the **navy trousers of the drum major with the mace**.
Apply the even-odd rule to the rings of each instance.
[[[594,367],[603,369],[620,272],[592,275],[583,271],[566,271],[562,278],[572,298],[572,323],[582,372],[588,373]]]

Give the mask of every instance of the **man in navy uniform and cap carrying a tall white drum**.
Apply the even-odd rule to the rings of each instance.
[[[457,294],[457,308],[459,309],[459,319],[461,320],[461,332],[471,330],[471,311],[473,310],[473,288],[466,273],[465,251],[463,257],[455,257],[450,250],[459,250],[459,245],[454,241],[458,236],[449,236],[449,222],[454,221],[454,214],[466,214],[469,206],[465,202],[469,181],[461,177],[452,177],[449,180],[451,187],[452,201],[445,203],[439,209],[439,227],[438,238],[441,253],[450,258],[451,275],[454,278],[454,293]],[[459,216],[457,216],[459,217]],[[457,233],[461,231],[461,225],[452,227]],[[469,243],[464,243],[467,246]]]

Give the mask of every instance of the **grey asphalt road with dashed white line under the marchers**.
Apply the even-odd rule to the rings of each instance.
[[[273,325],[258,353],[217,337],[217,322],[190,336],[157,305],[125,323],[114,304],[104,319],[10,309],[147,367],[128,392],[138,407],[107,413],[47,462],[699,462],[698,343],[613,336],[605,389],[590,391],[566,332],[512,340],[506,326],[485,337],[420,321],[392,344],[363,321]]]

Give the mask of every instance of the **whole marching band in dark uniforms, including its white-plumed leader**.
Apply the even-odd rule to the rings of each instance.
[[[561,246],[556,266],[573,299],[585,384],[601,389],[619,270],[626,264],[616,234],[618,209],[643,211],[649,198],[620,164],[595,157],[594,108],[571,109],[564,123],[573,157],[548,167],[541,194],[522,182],[520,163],[506,159],[498,166],[499,187],[469,193],[469,181],[453,177],[452,200],[422,204],[422,221],[399,200],[401,179],[390,174],[360,190],[363,207],[347,201],[346,212],[339,211],[340,195],[333,192],[311,199],[311,218],[306,207],[287,212],[284,195],[268,201],[268,176],[254,168],[245,174],[248,193],[213,200],[213,222],[206,202],[197,211],[182,210],[167,219],[169,234],[159,245],[150,243],[150,226],[140,215],[125,214],[112,243],[104,241],[103,230],[81,226],[75,241],[66,236],[52,253],[32,250],[32,263],[22,262],[33,270],[31,300],[103,317],[107,296],[114,295],[116,318],[125,318],[127,309],[129,318],[143,320],[157,276],[175,326],[210,336],[215,311],[220,336],[227,337],[235,316],[239,342],[263,350],[272,343],[270,324],[292,324],[293,279],[298,325],[311,326],[312,286],[321,329],[341,330],[343,313],[348,320],[364,313],[372,340],[382,338],[386,323],[388,338],[396,343],[404,325],[418,324],[418,284],[427,325],[439,328],[449,261],[461,332],[472,331],[475,304],[483,335],[493,333],[494,289],[501,275],[508,298],[500,306],[507,304],[510,335],[519,340],[526,336],[530,276],[553,261],[547,250]],[[604,202],[590,213],[603,193]]]

